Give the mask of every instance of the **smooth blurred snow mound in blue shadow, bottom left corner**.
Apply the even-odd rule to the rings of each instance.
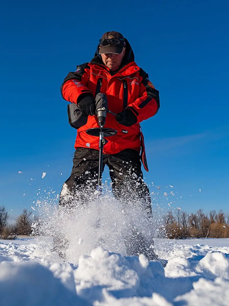
[[[40,263],[4,261],[0,271],[1,305],[87,305]]]

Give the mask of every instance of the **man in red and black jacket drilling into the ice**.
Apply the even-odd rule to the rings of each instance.
[[[158,112],[159,92],[150,82],[148,74],[134,62],[133,50],[119,32],[106,32],[91,62],[77,66],[76,71],[70,72],[61,85],[62,97],[76,103],[88,119],[78,129],[73,168],[63,185],[60,205],[71,205],[76,196],[79,201],[81,190],[96,190],[99,141],[97,137],[88,135],[86,130],[99,126],[95,97],[100,92],[107,97],[108,109],[117,114],[107,113],[105,127],[118,133],[107,137],[103,151],[103,168],[107,165],[110,170],[113,194],[120,201],[139,199],[151,218],[150,193],[141,171],[140,150],[144,148],[144,143],[139,123]],[[90,188],[86,188],[89,184]],[[85,192],[83,197],[85,199]]]

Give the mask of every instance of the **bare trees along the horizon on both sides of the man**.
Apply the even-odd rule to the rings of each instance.
[[[39,234],[33,224],[40,224],[37,216],[27,209],[17,218],[14,224],[8,224],[9,214],[4,206],[0,206],[0,238],[14,239],[18,235]],[[215,210],[205,214],[199,209],[195,214],[188,214],[177,207],[176,212],[169,211],[159,225],[158,237],[169,239],[182,238],[229,238],[229,213]]]

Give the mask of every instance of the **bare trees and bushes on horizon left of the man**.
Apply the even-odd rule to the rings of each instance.
[[[9,214],[5,206],[0,206],[0,238],[15,239],[18,235],[29,236],[32,234],[32,212],[23,210],[14,224],[8,224]]]

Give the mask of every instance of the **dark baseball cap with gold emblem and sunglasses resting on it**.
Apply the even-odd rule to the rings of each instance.
[[[102,43],[103,42],[102,39],[108,40],[106,42],[106,45]],[[109,40],[110,40],[110,43],[109,43]],[[125,40],[121,33],[115,32],[115,31],[106,32],[100,39],[99,54],[104,54],[104,53],[120,54],[122,53],[123,47],[125,47]]]

